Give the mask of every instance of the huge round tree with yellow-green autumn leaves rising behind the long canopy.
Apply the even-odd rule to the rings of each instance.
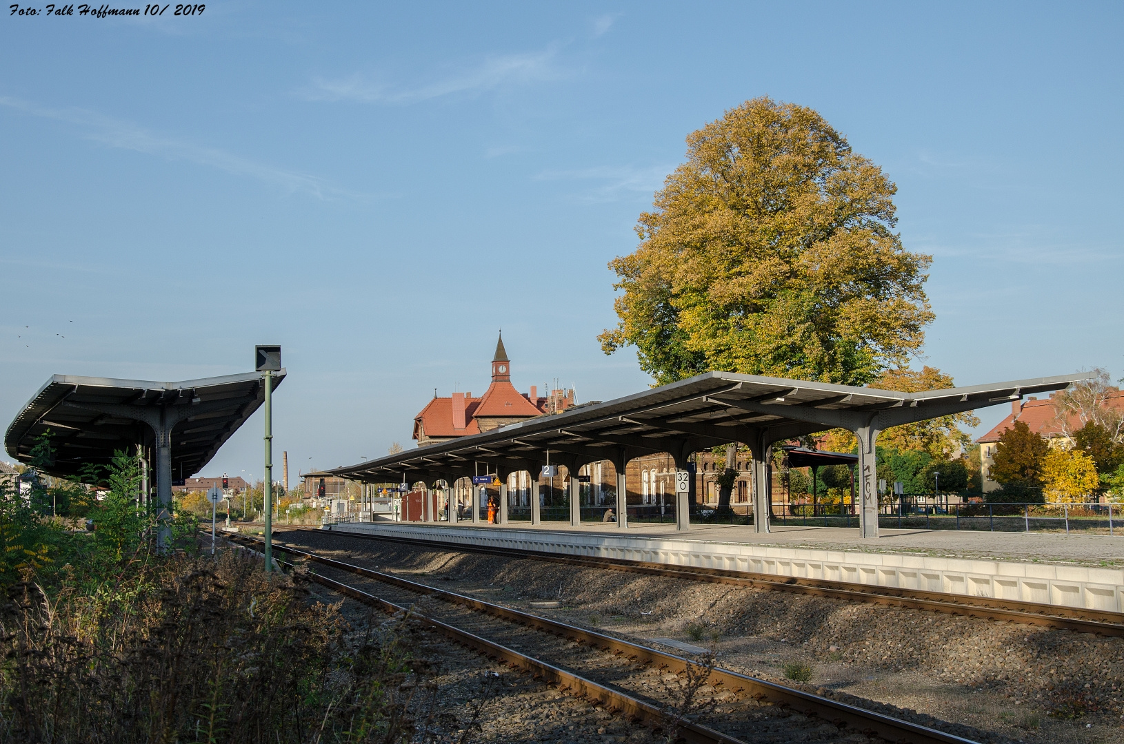
[[[931,257],[905,250],[894,183],[812,109],[746,101],[687,138],[687,162],[609,266],[606,353],[659,383],[720,369],[863,385],[921,347]]]

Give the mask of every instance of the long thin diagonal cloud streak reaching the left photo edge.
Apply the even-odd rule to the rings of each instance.
[[[21,113],[52,119],[81,128],[81,137],[109,147],[160,155],[169,159],[189,160],[233,175],[256,178],[288,192],[303,192],[318,199],[360,196],[328,184],[319,176],[287,171],[255,163],[226,150],[197,145],[184,139],[165,137],[128,121],[114,119],[85,109],[51,109],[29,101],[0,95],[0,105]]]

